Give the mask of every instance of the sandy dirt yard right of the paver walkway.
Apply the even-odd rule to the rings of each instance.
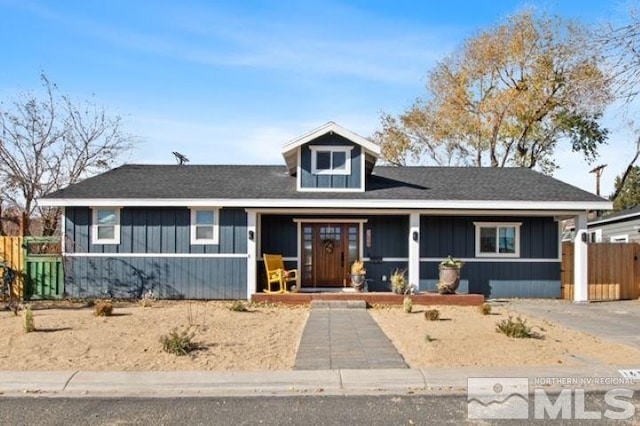
[[[407,314],[400,307],[371,311],[411,367],[543,366],[588,363],[633,364],[640,351],[522,315],[540,338],[514,339],[496,333],[496,323],[512,315],[493,307],[482,315],[478,307],[438,306],[440,320],[427,321],[426,309]],[[428,336],[428,337],[427,337]]]

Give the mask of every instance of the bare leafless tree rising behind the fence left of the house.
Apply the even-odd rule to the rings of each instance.
[[[134,139],[123,131],[122,118],[109,116],[94,99],[76,103],[46,75],[40,79],[44,95],[24,93],[0,103],[0,198],[27,217],[38,216],[43,235],[53,235],[60,209],[38,207],[37,198],[108,169]]]

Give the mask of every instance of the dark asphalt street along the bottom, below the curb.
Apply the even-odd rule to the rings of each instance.
[[[631,402],[629,420],[556,420],[552,424],[638,424],[640,392]],[[586,412],[601,416],[608,407],[604,395],[589,393],[584,408],[574,403],[570,417]],[[48,398],[0,399],[4,425],[446,425],[542,424],[529,420],[469,420],[466,396],[262,396],[233,398]],[[579,414],[578,414],[579,415]],[[557,414],[561,417],[561,413]]]

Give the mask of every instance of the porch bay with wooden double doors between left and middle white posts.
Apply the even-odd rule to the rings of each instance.
[[[388,295],[395,270],[405,271],[407,282],[417,291],[419,241],[417,236],[412,237],[418,230],[412,230],[411,216],[410,212],[397,210],[256,211],[255,290],[249,296],[261,295],[267,287],[264,254],[278,254],[286,269],[298,271],[296,288],[305,293],[294,296],[298,299],[309,301],[310,294],[325,292],[332,297],[350,296],[335,292],[352,290],[350,270],[356,260],[364,261],[368,292]]]

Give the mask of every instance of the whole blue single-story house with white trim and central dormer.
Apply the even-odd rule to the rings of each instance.
[[[369,291],[396,268],[421,291],[465,262],[459,292],[560,297],[560,221],[582,228],[611,203],[525,168],[389,167],[380,147],[333,122],[282,148],[284,165],[124,165],[40,199],[63,208],[71,297],[243,299],[264,288],[263,253],[301,291]]]

